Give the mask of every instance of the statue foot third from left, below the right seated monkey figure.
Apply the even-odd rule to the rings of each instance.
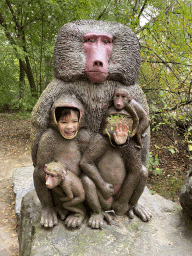
[[[93,213],[88,221],[88,226],[94,229],[102,229],[104,225],[104,219],[111,225],[113,216],[108,212]]]

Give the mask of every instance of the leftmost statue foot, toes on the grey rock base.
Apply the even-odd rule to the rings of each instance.
[[[57,225],[57,213],[55,209],[52,207],[44,207],[41,210],[41,225],[45,228],[52,228]]]

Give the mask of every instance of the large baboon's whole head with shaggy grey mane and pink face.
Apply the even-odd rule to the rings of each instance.
[[[55,77],[63,81],[105,80],[133,85],[140,70],[140,45],[133,31],[117,22],[83,20],[65,24],[58,33]]]

